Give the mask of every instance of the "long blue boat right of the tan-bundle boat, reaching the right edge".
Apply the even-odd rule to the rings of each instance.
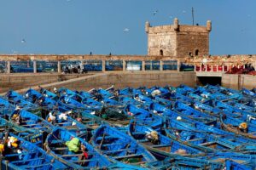
[[[198,148],[199,150],[204,150],[205,152],[217,152],[217,150],[248,152],[248,150],[250,150],[251,153],[253,153],[256,151],[256,145],[253,143],[241,143],[241,140],[236,137],[225,137],[225,139],[223,139],[218,135],[201,132],[195,127],[189,127],[186,123],[173,119],[165,130],[170,138],[189,144],[190,146]]]

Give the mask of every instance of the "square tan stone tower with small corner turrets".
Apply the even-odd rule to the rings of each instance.
[[[197,56],[209,54],[209,33],[212,22],[207,26],[179,25],[177,18],[173,25],[150,26],[147,21],[145,31],[148,34],[148,55]]]

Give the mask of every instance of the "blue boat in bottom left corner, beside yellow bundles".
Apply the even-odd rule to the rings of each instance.
[[[1,134],[1,139],[5,135]],[[2,166],[3,170],[61,170],[68,169],[66,165],[49,156],[44,150],[37,145],[27,142],[26,140],[9,133],[9,137],[15,138],[19,141],[15,149],[8,148],[3,152]],[[13,146],[11,146],[13,147]]]

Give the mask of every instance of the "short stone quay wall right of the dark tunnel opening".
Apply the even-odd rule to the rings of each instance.
[[[256,88],[256,76],[223,74],[222,86],[226,88],[234,88],[234,89]]]

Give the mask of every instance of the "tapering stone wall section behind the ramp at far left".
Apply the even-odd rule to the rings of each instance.
[[[29,88],[32,86],[38,86],[41,84],[47,84],[52,82],[61,82],[70,80],[72,78],[89,76],[91,74],[79,75],[79,74],[0,74],[0,93],[6,92],[9,89]]]

